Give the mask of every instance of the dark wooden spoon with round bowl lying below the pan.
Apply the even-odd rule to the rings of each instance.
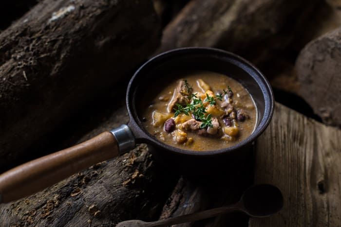
[[[129,220],[118,223],[116,227],[166,227],[185,222],[198,221],[231,211],[243,211],[252,217],[267,217],[278,212],[282,207],[282,192],[273,185],[259,184],[248,188],[239,202],[229,206],[204,210],[155,222]]]

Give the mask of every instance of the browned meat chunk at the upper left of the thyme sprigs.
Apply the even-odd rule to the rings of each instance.
[[[185,106],[187,103],[189,103],[189,98],[192,94],[192,90],[188,89],[185,86],[185,81],[181,80],[179,81],[178,86],[174,90],[173,97],[170,100],[170,103],[168,105],[168,112],[174,111],[173,109],[176,107],[175,104],[180,104],[182,106]]]

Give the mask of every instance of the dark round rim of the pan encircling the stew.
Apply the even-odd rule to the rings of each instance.
[[[142,121],[139,119],[137,111],[136,111],[136,106],[134,106],[134,96],[136,95],[135,92],[133,92],[134,82],[136,81],[136,78],[139,75],[143,75],[144,70],[148,70],[149,68],[152,68],[153,65],[157,65],[158,63],[164,62],[164,60],[171,59],[174,57],[174,55],[184,55],[184,54],[193,54],[195,52],[209,52],[210,54],[216,54],[219,56],[224,56],[228,57],[231,60],[232,64],[235,64],[237,67],[241,68],[242,70],[246,71],[244,68],[241,66],[246,67],[249,70],[253,71],[253,74],[251,75],[250,72],[246,71],[257,83],[261,90],[262,94],[264,95],[265,99],[265,111],[263,118],[260,120],[259,124],[255,128],[255,130],[252,132],[252,134],[247,137],[245,140],[242,140],[241,142],[222,149],[218,150],[211,150],[211,151],[191,151],[191,150],[185,150],[185,149],[180,149],[177,147],[170,146],[166,143],[161,142],[160,140],[157,140],[150,134],[148,131],[146,131],[142,127]],[[257,78],[255,78],[257,76]],[[251,96],[252,93],[250,92]],[[216,49],[216,48],[209,48],[209,47],[185,47],[185,48],[177,48],[173,49],[167,52],[160,53],[154,57],[152,57],[150,60],[148,60],[146,63],[144,63],[136,72],[134,73],[133,77],[131,78],[128,88],[127,88],[127,93],[126,93],[126,104],[127,104],[127,109],[128,109],[128,114],[130,117],[130,122],[129,125],[136,136],[136,140],[138,142],[144,142],[144,143],[151,143],[153,145],[159,146],[163,149],[166,149],[171,152],[175,152],[180,155],[189,155],[189,156],[217,156],[217,155],[222,155],[225,153],[231,153],[236,150],[239,150],[254,140],[256,140],[266,129],[266,127],[269,125],[271,122],[273,112],[274,112],[274,96],[272,92],[272,88],[270,86],[269,81],[265,78],[263,73],[258,70],[253,64],[248,62],[246,59],[242,58],[241,56],[234,54],[232,52],[227,52],[224,50]]]

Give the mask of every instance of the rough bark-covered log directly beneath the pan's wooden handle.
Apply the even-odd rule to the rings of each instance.
[[[128,122],[125,106],[110,109],[108,119],[78,142]],[[64,227],[115,226],[128,219],[154,220],[176,183],[176,176],[157,166],[146,145],[141,144],[124,156],[98,163],[42,192],[1,204],[0,223]]]

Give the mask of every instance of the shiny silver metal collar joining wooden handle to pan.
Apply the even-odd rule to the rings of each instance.
[[[120,127],[110,130],[114,135],[120,155],[135,148],[135,137],[128,125],[122,124]]]

